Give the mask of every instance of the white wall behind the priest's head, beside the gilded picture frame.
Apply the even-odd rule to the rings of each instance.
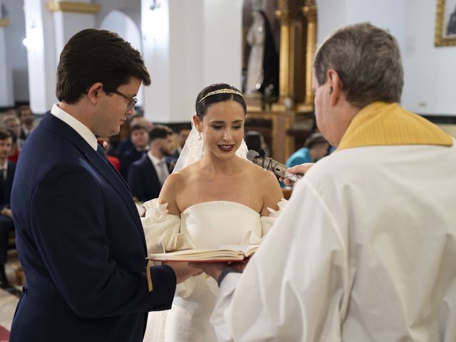
[[[456,46],[435,47],[436,1],[317,0],[318,43],[340,26],[370,21],[397,39],[403,56],[402,105],[421,114],[456,115]]]

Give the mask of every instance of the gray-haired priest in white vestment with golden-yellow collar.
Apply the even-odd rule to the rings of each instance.
[[[338,148],[243,273],[201,265],[219,281],[217,338],[456,341],[455,140],[398,105],[400,52],[383,29],[339,29],[314,71],[317,125]]]

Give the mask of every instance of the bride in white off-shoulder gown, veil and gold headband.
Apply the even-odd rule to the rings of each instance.
[[[276,177],[245,159],[242,93],[215,84],[199,93],[195,106],[178,171],[158,199],[145,203],[150,253],[259,244],[285,203]],[[217,289],[205,274],[178,285],[170,311],[150,312],[144,341],[217,341],[209,324]]]

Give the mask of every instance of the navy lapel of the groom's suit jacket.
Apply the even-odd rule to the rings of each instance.
[[[88,145],[86,140],[84,140],[76,130],[73,130],[69,125],[64,123],[62,120],[56,118],[51,113],[46,113],[43,119],[40,122],[40,125],[44,125],[49,130],[52,130],[53,133],[60,135],[62,138],[69,140],[78,150],[80,150],[83,155],[86,156],[87,160],[90,162],[90,165],[93,166],[95,170],[108,182],[119,196],[125,202],[125,207],[128,208],[128,211],[133,217],[133,220],[140,229],[142,234],[141,238],[145,244],[144,231],[142,229],[142,224],[139,219],[138,209],[136,208],[135,202],[133,202],[133,196],[131,195],[130,189],[125,181],[122,179],[114,167],[105,160],[103,157],[98,155],[98,152],[93,150],[93,148]]]

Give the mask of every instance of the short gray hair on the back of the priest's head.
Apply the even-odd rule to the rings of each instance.
[[[398,41],[368,23],[339,28],[316,51],[314,72],[318,85],[333,69],[341,78],[347,100],[358,108],[369,103],[400,101],[404,73]]]

